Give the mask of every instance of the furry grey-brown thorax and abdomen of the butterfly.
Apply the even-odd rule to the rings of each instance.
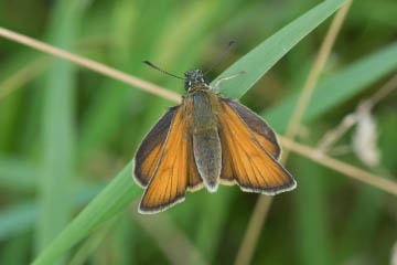
[[[222,170],[222,148],[217,121],[207,92],[191,95],[194,160],[208,191],[216,191]]]

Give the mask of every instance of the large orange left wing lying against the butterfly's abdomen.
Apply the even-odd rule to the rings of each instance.
[[[189,123],[182,107],[175,110],[160,160],[139,205],[141,213],[157,213],[184,200],[185,191],[197,190],[202,180],[194,163]]]

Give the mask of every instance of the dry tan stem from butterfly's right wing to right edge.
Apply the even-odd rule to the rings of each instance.
[[[319,149],[313,149],[308,146],[300,145],[286,137],[279,137],[279,139],[281,146],[285,149],[297,152],[320,165],[325,166],[326,168],[341,172],[342,174],[348,176],[364,183],[376,187],[383,191],[397,195],[397,183],[395,181],[367,172],[363,169],[353,167],[348,163],[339,161],[334,158],[324,155]]]

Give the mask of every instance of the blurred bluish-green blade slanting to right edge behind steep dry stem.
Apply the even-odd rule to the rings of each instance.
[[[303,121],[313,120],[397,68],[397,43],[383,47],[356,63],[351,64],[333,77],[321,82],[315,88]],[[299,95],[292,95],[261,116],[281,134],[292,115]]]

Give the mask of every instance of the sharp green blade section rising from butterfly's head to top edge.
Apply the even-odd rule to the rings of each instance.
[[[219,87],[221,92],[232,98],[242,97],[287,52],[335,12],[345,1],[323,1],[264,41],[221,75],[230,76],[240,71],[246,72],[234,78],[233,82],[223,82]]]

